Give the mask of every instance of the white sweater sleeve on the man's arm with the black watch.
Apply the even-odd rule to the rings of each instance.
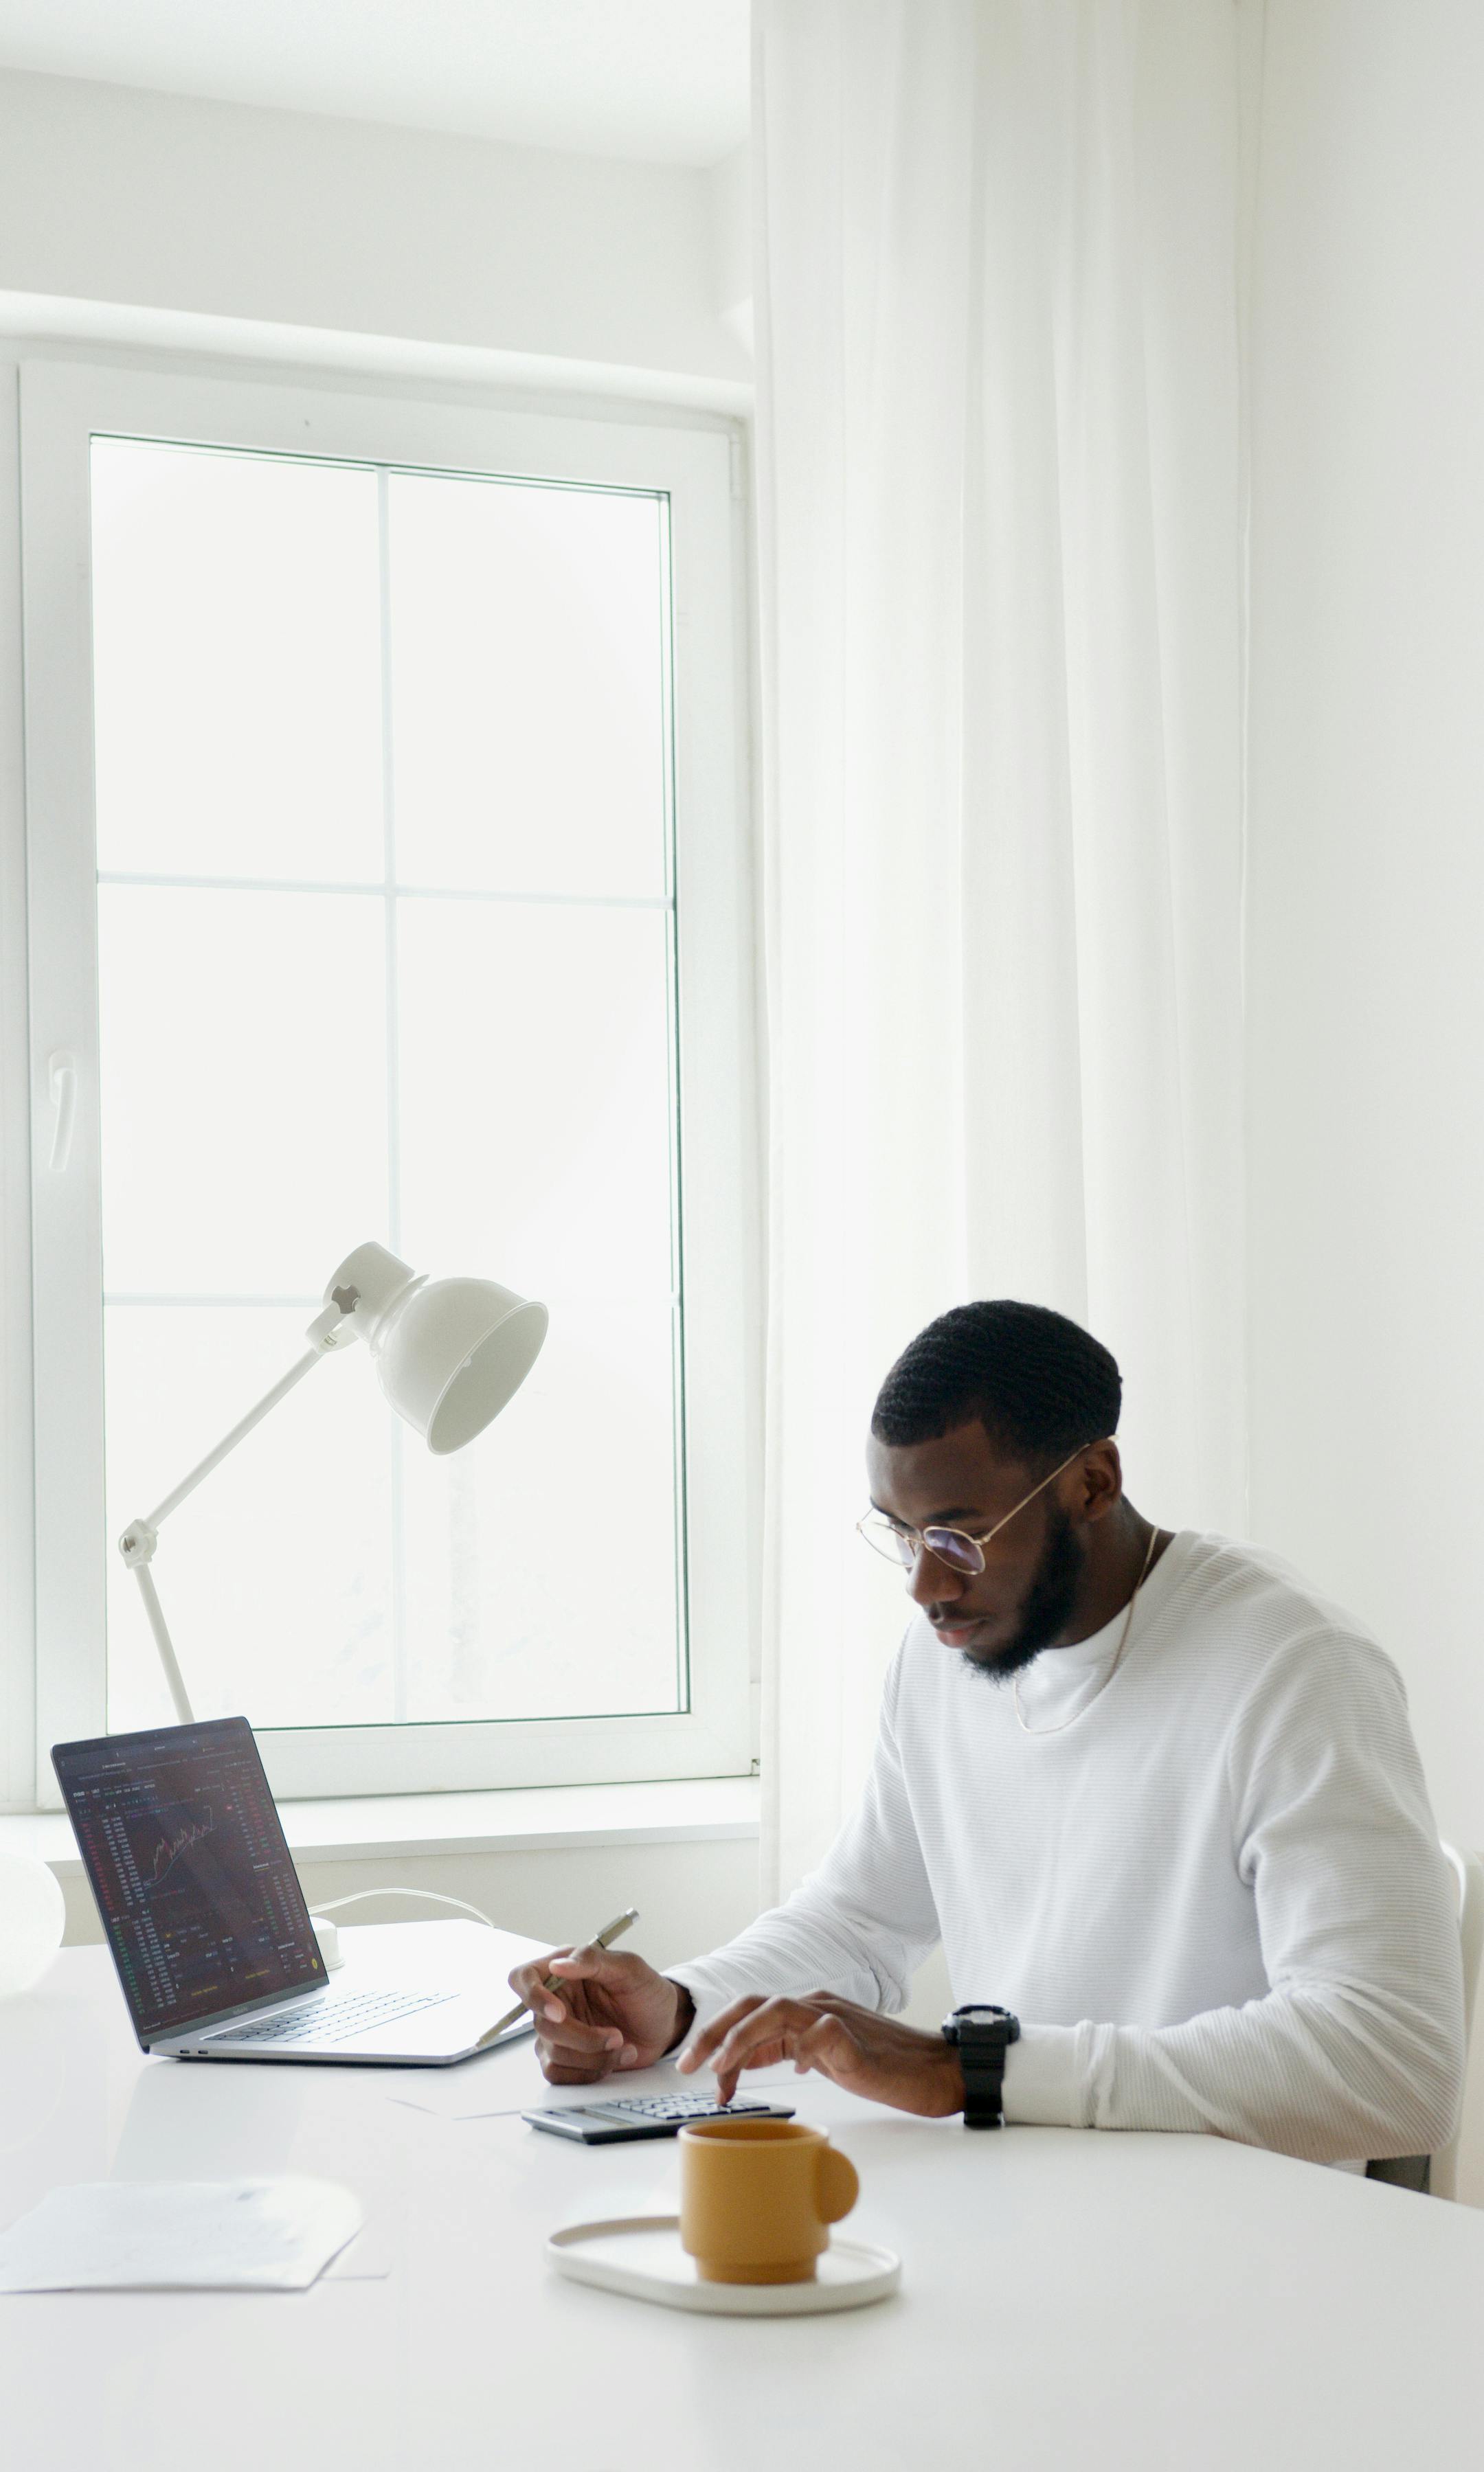
[[[1026,2025],[1007,2119],[1212,2131],[1316,2163],[1432,2153],[1462,2094],[1462,1950],[1395,1666],[1333,1629],[1291,1641],[1227,1772],[1266,1997],[1172,2027]]]

